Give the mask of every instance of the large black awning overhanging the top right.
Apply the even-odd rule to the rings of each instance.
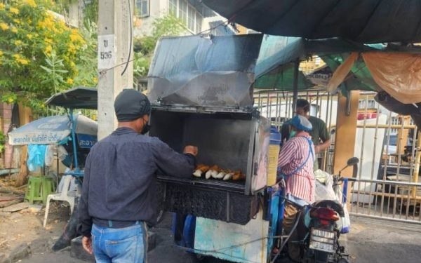
[[[202,0],[249,29],[360,43],[421,41],[420,0]]]

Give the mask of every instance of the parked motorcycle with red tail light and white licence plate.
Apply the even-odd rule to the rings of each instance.
[[[340,245],[339,241],[340,234],[347,233],[344,227],[347,215],[342,203],[346,203],[347,182],[355,181],[358,163],[359,159],[356,157],[347,161],[345,168],[353,167],[352,178],[341,177],[345,168],[342,168],[338,175],[333,175],[332,187],[335,196],[338,196],[337,200],[321,200],[305,206],[294,204],[300,207],[293,231],[296,229],[298,233],[299,241],[296,242],[300,243],[302,262],[349,262],[345,247]],[[340,187],[342,184],[343,191]],[[283,241],[281,249],[288,239],[289,236]],[[272,262],[275,262],[275,259]]]

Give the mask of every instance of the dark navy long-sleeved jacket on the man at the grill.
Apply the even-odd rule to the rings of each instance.
[[[79,203],[81,234],[91,236],[93,218],[156,224],[156,173],[191,177],[196,159],[156,137],[118,128],[97,142],[86,159]]]

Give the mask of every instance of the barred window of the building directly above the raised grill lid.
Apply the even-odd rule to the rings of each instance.
[[[168,0],[168,13],[179,18],[189,31],[201,32],[203,17],[187,0]]]

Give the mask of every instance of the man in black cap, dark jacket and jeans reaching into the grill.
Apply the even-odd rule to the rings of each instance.
[[[96,262],[146,262],[146,224],[156,224],[156,172],[191,177],[197,147],[179,154],[145,136],[151,106],[136,90],[123,90],[114,109],[119,127],[86,159],[79,203],[82,245]]]

